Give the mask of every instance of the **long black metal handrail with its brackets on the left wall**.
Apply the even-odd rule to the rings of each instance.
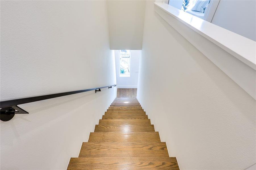
[[[65,95],[71,95],[71,94],[77,94],[82,92],[88,92],[95,90],[96,92],[100,92],[102,88],[112,88],[112,86],[116,86],[116,84],[111,86],[103,86],[103,87],[96,87],[96,88],[90,88],[90,89],[84,89],[84,90],[76,90],[76,91],[70,91],[70,92],[62,92],[62,93],[55,93],[55,94],[46,94],[46,95],[39,95],[39,96],[30,96],[30,97],[22,97],[22,98],[16,98],[16,99],[8,99],[0,101],[0,120],[8,121],[11,120],[14,116],[14,114],[28,114],[27,111],[21,109],[17,105],[24,104],[24,103],[31,103],[35,101],[40,100],[46,100],[46,99],[52,99],[55,97],[61,97]]]

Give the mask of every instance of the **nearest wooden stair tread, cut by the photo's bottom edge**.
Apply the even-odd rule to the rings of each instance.
[[[129,170],[172,169],[178,170],[176,158],[169,157],[99,157],[71,158],[67,170]]]

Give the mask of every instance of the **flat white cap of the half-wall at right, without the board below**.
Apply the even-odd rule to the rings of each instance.
[[[256,70],[256,42],[166,3],[155,6]]]

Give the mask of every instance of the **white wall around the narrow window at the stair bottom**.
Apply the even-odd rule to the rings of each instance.
[[[130,77],[119,76],[119,52],[115,50],[117,88],[137,88],[141,50],[131,50]]]

